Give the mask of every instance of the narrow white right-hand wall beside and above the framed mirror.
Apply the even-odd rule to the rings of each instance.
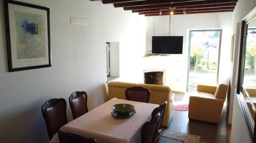
[[[239,62],[239,48],[240,48],[240,35],[241,35],[241,22],[242,19],[256,6],[256,0],[239,0],[232,15],[232,30],[231,34],[235,35],[234,49],[233,49],[233,63],[231,63],[231,72],[229,76],[230,83],[230,107],[228,123],[232,122],[233,100],[237,91],[237,78],[238,78],[238,62]]]

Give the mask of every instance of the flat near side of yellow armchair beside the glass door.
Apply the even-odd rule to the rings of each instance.
[[[223,99],[190,96],[188,118],[218,123],[223,108]]]

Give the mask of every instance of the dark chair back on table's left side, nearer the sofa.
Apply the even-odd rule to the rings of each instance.
[[[69,104],[73,119],[76,119],[88,112],[86,92],[73,92],[69,97]]]

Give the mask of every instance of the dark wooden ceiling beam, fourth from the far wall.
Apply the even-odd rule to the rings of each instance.
[[[226,4],[226,3],[234,3],[237,1],[238,0],[209,0],[209,1],[197,1],[197,2],[174,3],[174,4],[133,6],[133,7],[124,7],[123,9],[124,10],[143,10],[143,9],[155,9],[155,8],[166,8],[166,7],[186,7],[186,6],[200,6],[200,5],[212,5],[212,4]]]

